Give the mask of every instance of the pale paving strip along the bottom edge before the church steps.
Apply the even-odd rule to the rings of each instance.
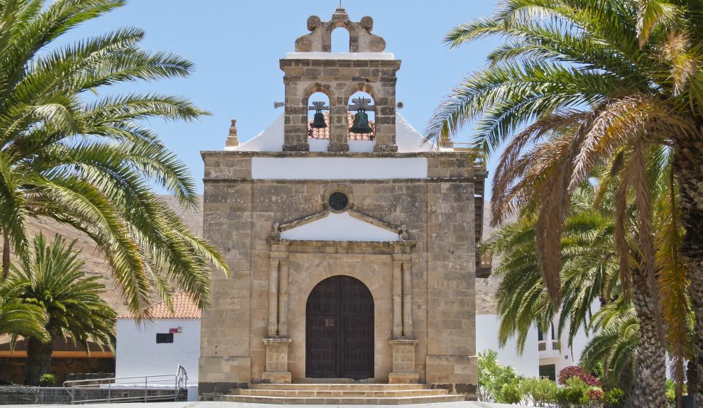
[[[3,408],[27,408],[27,407],[61,407],[61,405],[4,405]],[[81,408],[105,408],[105,404],[84,404]],[[143,403],[109,404],[111,408],[145,408]],[[276,404],[249,404],[244,402],[150,402],[146,408],[295,408],[303,405],[276,405]],[[373,408],[388,407],[388,405],[315,405],[320,408],[341,407],[341,408]],[[439,402],[435,404],[407,404],[400,405],[407,408],[533,408],[521,405],[491,404],[488,402]]]

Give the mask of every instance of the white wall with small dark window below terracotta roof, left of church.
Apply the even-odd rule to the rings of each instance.
[[[173,343],[156,343],[156,333],[182,328]],[[115,351],[116,377],[175,375],[178,365],[188,373],[188,385],[197,385],[200,358],[200,319],[154,319],[135,324],[134,319],[117,320]]]

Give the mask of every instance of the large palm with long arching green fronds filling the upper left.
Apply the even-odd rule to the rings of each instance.
[[[187,77],[192,62],[140,48],[138,28],[53,45],[123,0],[0,0],[0,231],[3,275],[10,251],[27,263],[31,217],[48,217],[92,238],[130,309],[142,312],[174,286],[200,307],[210,267],[222,255],[154,192],[198,204],[187,165],[142,123],[196,120],[207,112],[182,97],[99,93],[111,84]]]

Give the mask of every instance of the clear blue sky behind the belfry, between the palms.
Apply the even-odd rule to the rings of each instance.
[[[308,16],[327,21],[338,5],[339,0],[131,0],[123,9],[76,28],[61,42],[134,26],[146,31],[144,48],[168,50],[195,62],[190,78],[129,84],[119,90],[183,95],[212,113],[195,123],[151,123],[190,165],[202,191],[200,150],[222,149],[230,118],[237,119],[240,140],[248,140],[280,114],[273,109],[273,101],[283,100],[278,60],[293,52],[296,38],[308,33]],[[442,97],[462,77],[483,67],[496,45],[482,40],[449,50],[442,41],[453,26],[490,16],[494,1],[344,0],[343,5],[353,21],[373,17],[373,33],[386,39],[386,52],[403,61],[397,96],[405,107],[400,113],[420,132]],[[459,139],[469,135],[467,130]]]

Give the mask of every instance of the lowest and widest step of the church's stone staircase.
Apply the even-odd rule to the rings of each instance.
[[[464,395],[426,395],[418,397],[259,397],[254,395],[215,395],[215,401],[244,402],[249,404],[354,404],[401,405],[432,404],[436,402],[464,401]]]

